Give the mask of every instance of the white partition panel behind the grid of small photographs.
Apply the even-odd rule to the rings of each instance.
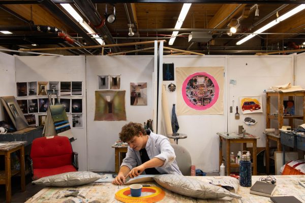
[[[65,98],[82,98],[82,128],[72,127],[72,115],[68,114],[72,133],[76,141],[72,142],[78,152],[79,171],[87,170],[86,144],[86,83],[85,56],[23,56],[16,59],[16,82],[34,81],[82,81],[82,96],[66,96]],[[16,86],[16,84],[15,84]],[[46,96],[44,96],[46,97]],[[37,98],[29,96],[28,98]]]

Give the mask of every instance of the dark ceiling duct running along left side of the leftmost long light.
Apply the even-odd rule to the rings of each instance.
[[[98,42],[93,40],[87,33],[78,26],[66,13],[60,10],[51,0],[37,0],[40,4],[45,6],[52,14],[62,19],[67,25],[74,29],[80,36],[82,36],[88,45],[99,45]]]

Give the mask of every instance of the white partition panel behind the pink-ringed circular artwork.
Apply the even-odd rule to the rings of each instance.
[[[198,67],[198,66],[223,66],[227,73],[227,56],[163,56],[164,63],[174,63],[176,67]],[[162,65],[161,65],[162,68]],[[162,79],[162,76],[160,76]],[[176,76],[175,76],[176,79]],[[176,81],[163,81],[166,86]],[[225,80],[226,84],[226,80]],[[224,105],[226,104],[227,89],[224,89]],[[172,110],[172,105],[176,103],[176,91],[167,92],[168,109]],[[227,112],[224,106],[223,115],[201,115],[201,116],[178,116],[179,133],[187,134],[188,138],[178,141],[188,149],[192,157],[192,164],[196,168],[201,168],[205,172],[218,171],[219,139],[218,131],[227,130]]]

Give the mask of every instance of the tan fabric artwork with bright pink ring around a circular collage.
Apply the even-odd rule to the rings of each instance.
[[[224,67],[176,67],[177,115],[223,114]]]

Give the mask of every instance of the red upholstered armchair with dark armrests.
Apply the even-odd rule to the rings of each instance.
[[[37,138],[32,143],[30,170],[34,180],[46,176],[76,172],[78,154],[72,151],[67,137]]]

